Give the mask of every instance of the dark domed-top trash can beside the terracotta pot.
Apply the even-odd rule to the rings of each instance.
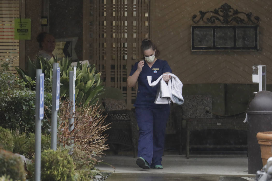
[[[259,91],[246,111],[248,122],[248,173],[262,169],[261,150],[256,135],[272,131],[272,92]]]

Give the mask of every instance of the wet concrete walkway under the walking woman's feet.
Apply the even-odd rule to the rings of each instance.
[[[248,174],[248,158],[243,154],[191,154],[189,159],[178,153],[165,153],[162,157],[164,169],[143,170],[136,165],[131,155],[106,154],[104,163],[97,169],[112,172],[110,180],[254,180]]]

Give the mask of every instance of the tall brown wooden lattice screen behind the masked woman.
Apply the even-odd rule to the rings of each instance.
[[[126,79],[150,34],[150,1],[84,0],[83,12],[83,58],[95,63],[107,87],[122,90],[131,109],[136,90]]]

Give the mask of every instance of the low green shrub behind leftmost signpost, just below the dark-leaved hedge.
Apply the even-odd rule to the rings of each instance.
[[[48,150],[51,146],[51,136],[41,135],[41,151]],[[14,149],[13,153],[24,155],[26,158],[31,159],[35,154],[35,134],[30,133],[14,133]]]

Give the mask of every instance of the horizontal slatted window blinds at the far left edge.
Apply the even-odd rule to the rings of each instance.
[[[14,40],[14,18],[18,17],[18,0],[0,1],[0,63],[10,62],[11,72],[19,66],[19,40]]]

